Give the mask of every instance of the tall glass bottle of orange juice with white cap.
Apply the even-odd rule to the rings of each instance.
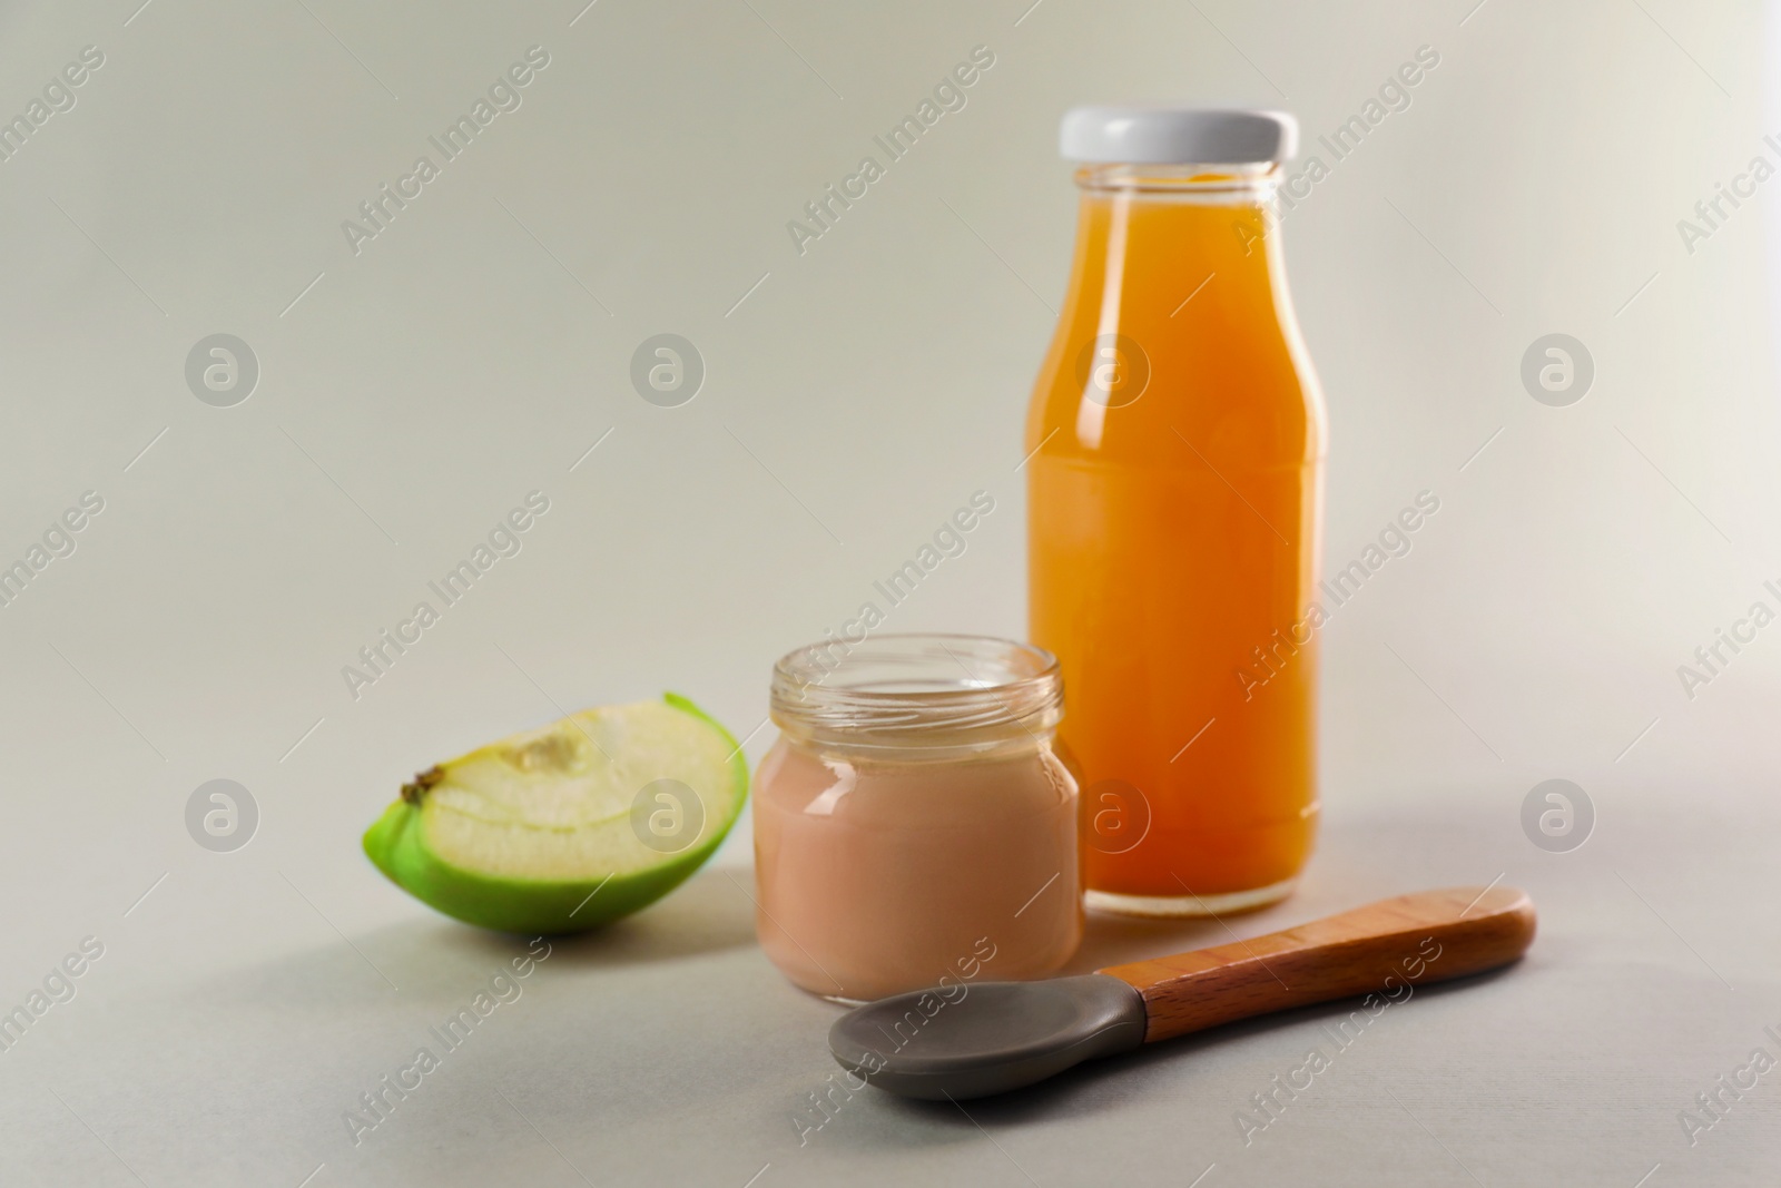
[[[1026,422],[1088,905],[1284,898],[1316,830],[1323,397],[1268,207],[1291,116],[1076,109],[1076,264]]]

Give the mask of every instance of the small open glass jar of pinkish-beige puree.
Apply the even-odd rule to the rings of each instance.
[[[1083,935],[1056,659],[980,636],[825,641],[773,668],[755,928],[841,1001],[1054,972]]]

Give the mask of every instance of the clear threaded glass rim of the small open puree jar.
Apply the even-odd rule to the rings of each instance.
[[[825,639],[773,664],[771,716],[780,730],[850,746],[1038,739],[1063,716],[1063,677],[1051,652],[996,636]]]

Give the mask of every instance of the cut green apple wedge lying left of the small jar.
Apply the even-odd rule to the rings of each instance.
[[[365,830],[365,853],[468,924],[582,932],[679,887],[746,798],[743,748],[668,693],[584,709],[422,771]]]

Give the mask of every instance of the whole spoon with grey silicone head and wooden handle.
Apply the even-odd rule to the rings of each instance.
[[[1078,978],[898,994],[837,1019],[828,1049],[903,1097],[987,1097],[1236,1019],[1357,994],[1403,1001],[1416,985],[1507,965],[1533,928],[1512,887],[1425,891]]]

